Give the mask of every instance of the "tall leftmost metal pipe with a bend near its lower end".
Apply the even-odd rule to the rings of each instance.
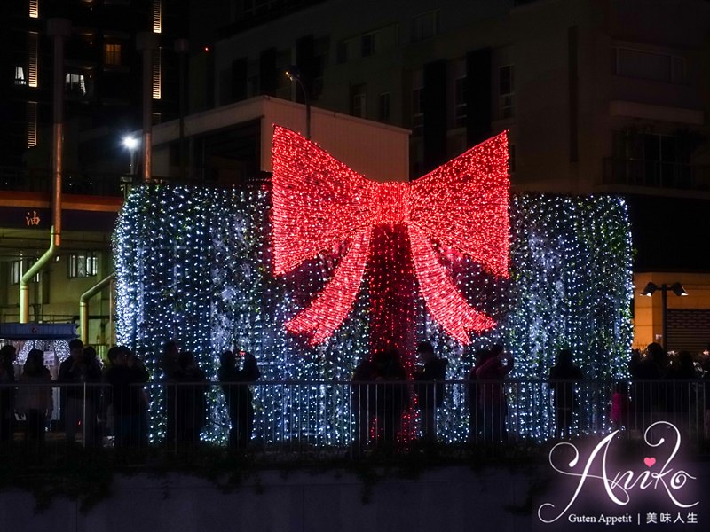
[[[51,262],[61,246],[61,171],[64,148],[64,39],[71,35],[71,22],[67,19],[47,21],[47,35],[54,45],[52,75],[53,124],[51,129],[51,232],[47,251],[20,278],[20,324],[29,321],[29,281]]]

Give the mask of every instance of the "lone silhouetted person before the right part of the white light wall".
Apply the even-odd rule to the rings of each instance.
[[[572,435],[572,419],[577,402],[575,383],[584,379],[580,368],[574,365],[570,349],[560,349],[557,363],[550,368],[548,377],[555,409],[555,437],[569,438]]]

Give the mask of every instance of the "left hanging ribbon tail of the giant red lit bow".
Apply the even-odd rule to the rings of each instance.
[[[310,336],[311,345],[318,345],[343,325],[365,273],[371,232],[371,228],[367,228],[355,237],[325,288],[308,307],[286,323],[288,332],[306,334]]]

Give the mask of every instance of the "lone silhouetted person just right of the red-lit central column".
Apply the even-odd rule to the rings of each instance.
[[[416,352],[422,357],[422,368],[414,372],[417,406],[422,412],[422,436],[424,440],[437,440],[437,408],[444,403],[444,380],[446,380],[446,359],[434,353],[429,341],[417,345]]]

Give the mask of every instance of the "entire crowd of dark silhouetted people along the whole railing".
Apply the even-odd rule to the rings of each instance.
[[[351,381],[356,445],[396,442],[401,437],[420,437],[435,442],[437,413],[447,394],[447,360],[436,355],[429,341],[417,346],[421,364],[406,369],[398,351],[389,349],[364,358]],[[61,417],[67,442],[81,434],[83,445],[97,445],[110,434],[117,448],[147,444],[149,397],[145,385],[153,380],[166,385],[163,392],[165,442],[189,446],[199,442],[207,422],[206,394],[209,381],[193,352],[168,341],[162,350],[159,375],[151,375],[130,348],[110,348],[106,362],[81,340],[69,342],[69,356],[59,364],[56,380],[44,365],[40,349],[30,349],[19,377],[14,371],[15,348],[0,349],[0,444],[12,440],[15,414],[24,419],[25,439],[42,443],[54,406],[52,388],[59,384]],[[469,436],[471,441],[507,442],[509,399],[504,380],[514,369],[514,358],[501,344],[482,348],[468,374]],[[653,419],[672,416],[680,422],[698,412],[691,392],[710,384],[710,352],[697,361],[689,352],[669,355],[652,343],[643,353],[635,350],[628,364],[630,382],[616,383],[610,398],[609,421],[614,428],[645,426]],[[254,430],[254,406],[250,385],[260,376],[256,358],[241,351],[219,356],[217,380],[230,419],[229,446],[245,448]],[[578,388],[584,373],[574,364],[573,353],[561,349],[547,375],[554,411],[554,437],[574,435],[575,413],[580,411]],[[705,381],[701,382],[701,379]],[[697,381],[697,383],[696,383]],[[408,383],[413,386],[408,386]],[[18,386],[14,386],[15,384]],[[700,387],[694,386],[699,384]],[[412,393],[414,392],[414,393]],[[705,400],[705,399],[703,399]],[[705,413],[710,436],[710,408]],[[419,416],[418,434],[406,423]],[[409,431],[409,434],[407,434]]]

